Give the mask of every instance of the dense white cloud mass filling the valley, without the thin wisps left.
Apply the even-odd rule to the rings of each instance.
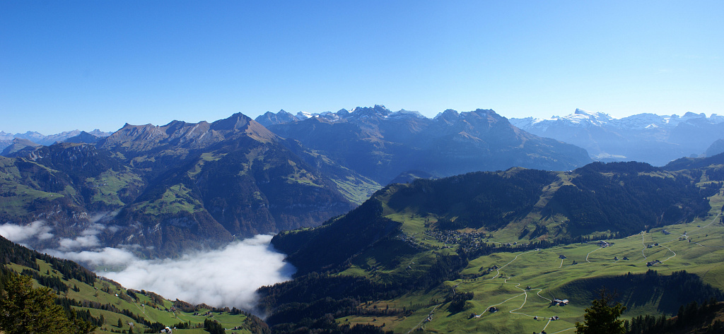
[[[177,260],[133,260],[125,270],[101,275],[167,299],[252,309],[257,288],[288,281],[295,271],[283,261],[284,254],[269,247],[269,241],[271,236],[258,235]]]

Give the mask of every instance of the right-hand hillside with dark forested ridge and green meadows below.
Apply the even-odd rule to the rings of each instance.
[[[722,300],[721,170],[594,163],[388,186],[274,238],[299,271],[261,289],[267,322],[288,333],[337,305],[339,324],[395,333],[573,333],[604,287],[626,319]]]

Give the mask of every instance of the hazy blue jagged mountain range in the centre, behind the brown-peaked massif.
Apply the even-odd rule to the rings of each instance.
[[[585,150],[521,131],[492,110],[446,110],[429,119],[378,105],[311,116],[267,112],[256,121],[380,184],[411,170],[439,177],[513,166],[568,170],[591,162]]]

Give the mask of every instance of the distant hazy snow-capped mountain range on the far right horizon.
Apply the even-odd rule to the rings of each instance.
[[[724,137],[724,116],[691,112],[683,116],[636,114],[617,119],[576,109],[568,116],[526,117],[510,119],[510,123],[532,134],[584,147],[595,160],[636,160],[654,166],[664,166],[683,156],[702,155]]]

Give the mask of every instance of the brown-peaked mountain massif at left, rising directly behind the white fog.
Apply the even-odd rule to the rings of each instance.
[[[98,238],[160,256],[313,226],[379,187],[242,114],[126,124],[96,144],[62,142],[1,160],[4,222],[44,220],[72,238],[103,213],[95,219],[113,228]]]

